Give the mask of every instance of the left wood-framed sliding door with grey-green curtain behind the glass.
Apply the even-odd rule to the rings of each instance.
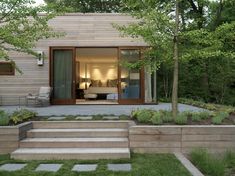
[[[51,50],[51,85],[53,104],[75,103],[75,64],[73,48]]]

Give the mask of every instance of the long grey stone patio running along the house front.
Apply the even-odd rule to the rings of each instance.
[[[158,105],[57,105],[48,107],[21,107],[33,110],[39,116],[65,116],[65,115],[130,115],[135,109],[154,109],[154,110],[170,110],[171,103],[159,103]],[[0,110],[13,112],[19,109],[18,106],[0,106]],[[203,111],[190,105],[179,104],[179,111]]]

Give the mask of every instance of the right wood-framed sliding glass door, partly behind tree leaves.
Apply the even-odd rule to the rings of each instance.
[[[119,103],[141,104],[144,96],[143,69],[131,69],[126,63],[133,63],[140,59],[140,49],[119,50]]]

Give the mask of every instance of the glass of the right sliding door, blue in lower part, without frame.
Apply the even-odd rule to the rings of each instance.
[[[135,62],[140,58],[139,50],[121,50],[121,61]],[[121,67],[121,99],[140,99],[140,70]]]

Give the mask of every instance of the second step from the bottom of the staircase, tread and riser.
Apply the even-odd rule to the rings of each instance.
[[[26,138],[20,148],[127,148],[128,138]]]

